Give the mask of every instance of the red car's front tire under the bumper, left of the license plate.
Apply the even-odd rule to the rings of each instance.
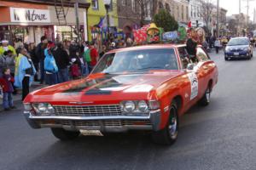
[[[60,140],[67,141],[73,140],[79,137],[80,132],[67,131],[63,128],[51,128],[53,135]]]

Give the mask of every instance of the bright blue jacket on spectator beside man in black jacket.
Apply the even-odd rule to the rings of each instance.
[[[49,55],[48,54],[48,49],[44,49],[44,55],[45,55],[45,59],[44,59],[44,71],[48,71],[51,73],[56,73],[58,72],[58,67],[56,65],[55,62],[55,58],[53,55]]]

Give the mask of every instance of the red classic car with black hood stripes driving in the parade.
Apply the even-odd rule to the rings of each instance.
[[[178,117],[192,105],[208,105],[218,69],[201,47],[157,44],[105,54],[90,76],[29,94],[27,122],[50,127],[56,138],[75,139],[83,130],[149,130],[159,144],[177,139]]]

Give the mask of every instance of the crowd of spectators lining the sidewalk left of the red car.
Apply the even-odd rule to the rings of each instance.
[[[101,50],[96,42],[64,41],[50,42],[41,37],[41,42],[16,43],[0,42],[0,96],[3,109],[15,108],[12,95],[21,90],[21,99],[29,94],[33,81],[54,85],[69,80],[86,77],[98,60],[114,48],[131,47],[130,38],[112,39],[103,42]]]

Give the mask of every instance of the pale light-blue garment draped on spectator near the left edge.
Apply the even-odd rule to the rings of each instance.
[[[22,88],[22,81],[26,75],[26,69],[31,68],[33,69],[33,75],[29,79],[29,85],[33,82],[33,76],[36,74],[36,69],[33,64],[30,64],[26,56],[21,56],[20,63],[18,65],[18,74],[15,75],[15,87]]]

